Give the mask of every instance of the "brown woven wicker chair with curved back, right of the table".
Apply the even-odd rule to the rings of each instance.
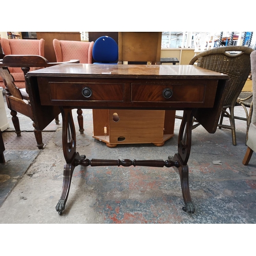
[[[234,106],[244,84],[250,74],[250,54],[253,49],[245,46],[227,46],[208,50],[196,55],[189,65],[216,71],[229,76],[230,86],[222,107],[222,114],[218,124],[219,129],[230,129],[233,145],[237,144],[236,126],[234,123]],[[229,113],[226,111],[229,109]],[[222,124],[223,117],[228,117],[230,125]],[[197,126],[198,124],[196,124]],[[195,126],[195,127],[196,127]]]

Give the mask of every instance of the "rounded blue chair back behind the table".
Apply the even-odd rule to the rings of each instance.
[[[93,45],[94,64],[117,64],[118,45],[116,41],[109,36],[99,37]]]

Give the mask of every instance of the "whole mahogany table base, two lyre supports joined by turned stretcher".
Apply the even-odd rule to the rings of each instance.
[[[74,168],[77,165],[82,166],[154,166],[154,167],[171,167],[176,166],[179,170],[180,180],[181,180],[181,189],[183,200],[185,202],[185,207],[183,210],[188,213],[193,213],[195,207],[192,203],[189,184],[188,184],[188,165],[187,161],[190,155],[191,149],[191,132],[193,124],[193,110],[184,111],[179,138],[178,138],[178,153],[174,157],[169,157],[169,160],[104,160],[104,159],[86,159],[86,156],[80,156],[76,152],[76,134],[75,126],[72,117],[72,109],[65,109],[61,107],[61,115],[63,120],[62,127],[62,147],[63,155],[66,160],[63,173],[63,185],[62,193],[60,199],[56,205],[56,210],[59,215],[62,214],[62,211],[65,209],[65,205],[68,199],[71,179],[73,175]],[[171,159],[170,159],[171,158]]]

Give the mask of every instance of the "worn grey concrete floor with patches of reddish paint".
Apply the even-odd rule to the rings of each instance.
[[[180,178],[173,167],[77,166],[66,209],[59,216],[55,206],[61,194],[65,163],[61,119],[60,125],[52,122],[44,131],[47,145],[40,151],[31,120],[19,115],[25,132],[16,137],[7,107],[6,111],[10,127],[2,133],[6,163],[0,164],[0,223],[256,222],[255,154],[248,166],[242,164],[245,121],[236,120],[236,146],[232,145],[230,130],[218,129],[215,134],[208,134],[201,126],[193,130],[188,167],[194,214],[182,210]],[[237,107],[236,115],[245,116],[244,110]],[[92,138],[92,111],[83,110],[83,118],[85,134],[76,134],[77,151],[89,159],[167,160],[177,152],[178,119],[175,136],[162,147],[128,144],[109,148]]]

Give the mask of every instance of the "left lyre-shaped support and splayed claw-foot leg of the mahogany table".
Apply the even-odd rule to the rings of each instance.
[[[62,147],[66,164],[64,165],[63,172],[62,193],[56,205],[56,210],[59,212],[59,215],[61,215],[62,211],[65,209],[69,196],[76,156],[76,133],[72,117],[72,110],[63,109],[62,107],[60,109],[62,115]]]

